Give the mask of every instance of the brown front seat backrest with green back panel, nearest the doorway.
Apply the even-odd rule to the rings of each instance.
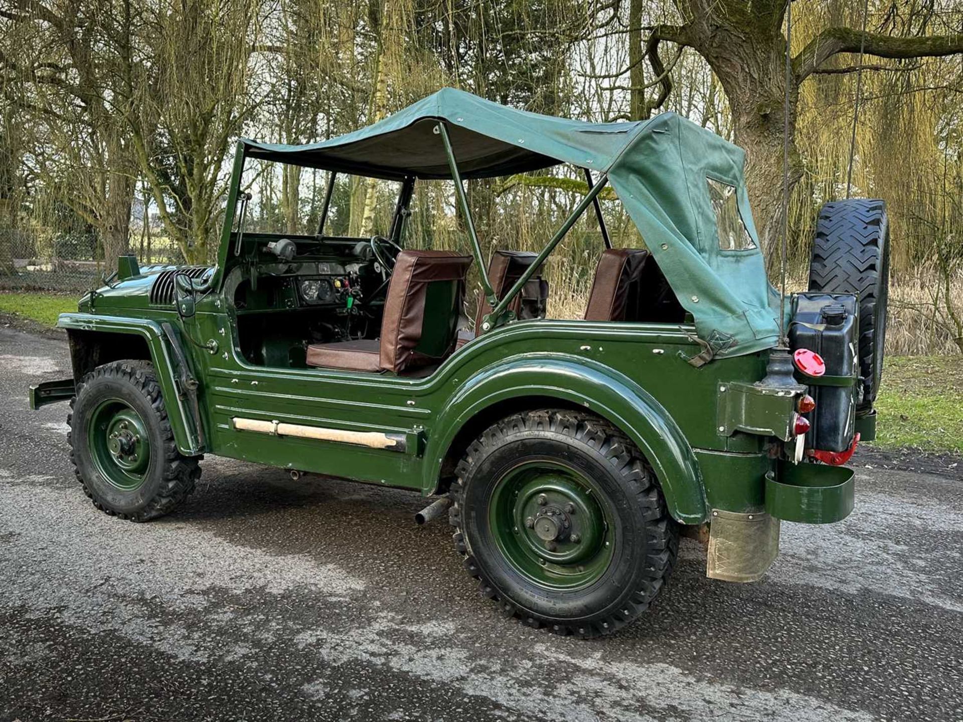
[[[471,256],[403,250],[388,284],[379,365],[396,374],[437,363],[455,348]]]

